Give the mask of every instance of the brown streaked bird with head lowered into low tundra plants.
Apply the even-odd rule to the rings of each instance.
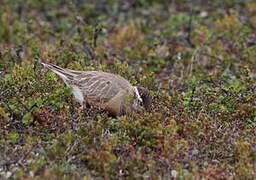
[[[72,94],[80,103],[104,109],[113,116],[127,115],[150,110],[152,96],[149,90],[133,86],[117,74],[101,71],[76,71],[57,65],[40,62],[45,68],[56,73],[72,88]]]

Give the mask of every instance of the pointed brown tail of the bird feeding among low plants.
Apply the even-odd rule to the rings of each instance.
[[[69,69],[63,69],[59,66],[56,66],[54,64],[50,64],[50,63],[44,63],[44,62],[40,62],[44,67],[50,69],[51,71],[53,71],[54,73],[58,74],[65,82],[69,81],[69,80],[73,80],[74,77],[76,76],[75,71],[71,72],[71,70]]]

